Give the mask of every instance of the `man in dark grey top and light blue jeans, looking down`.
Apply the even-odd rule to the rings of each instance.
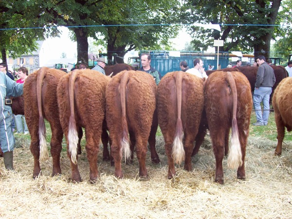
[[[254,126],[266,126],[270,113],[270,95],[276,81],[273,68],[266,62],[266,58],[260,55],[256,58],[259,65],[256,73],[254,91],[254,106],[256,110],[256,123]],[[260,103],[263,102],[264,110],[261,111]]]

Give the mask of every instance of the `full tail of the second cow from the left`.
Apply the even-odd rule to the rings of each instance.
[[[71,161],[77,164],[77,144],[78,132],[76,129],[75,112],[74,112],[74,84],[78,76],[78,71],[71,72],[69,76],[69,101],[70,101],[70,119],[68,130],[69,152],[71,154]]]

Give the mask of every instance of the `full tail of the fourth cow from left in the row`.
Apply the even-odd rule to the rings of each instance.
[[[174,162],[180,164],[184,161],[184,149],[183,149],[183,122],[182,122],[182,84],[183,84],[183,72],[178,72],[176,75],[176,93],[177,93],[177,108],[178,118],[176,124],[176,130],[174,135],[174,141],[172,144],[172,157]]]

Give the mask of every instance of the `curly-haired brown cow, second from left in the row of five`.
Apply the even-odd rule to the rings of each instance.
[[[63,76],[57,87],[60,122],[71,161],[71,180],[81,182],[77,166],[76,128],[85,128],[90,180],[98,178],[97,154],[105,117],[105,91],[110,78],[93,70],[74,70]]]

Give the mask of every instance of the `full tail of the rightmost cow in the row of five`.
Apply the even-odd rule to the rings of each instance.
[[[237,169],[242,165],[242,153],[239,142],[238,126],[236,119],[237,112],[237,88],[234,77],[230,72],[227,72],[227,81],[229,83],[232,98],[233,98],[233,112],[232,112],[232,134],[231,134],[231,147],[228,154],[227,165],[230,168]]]

